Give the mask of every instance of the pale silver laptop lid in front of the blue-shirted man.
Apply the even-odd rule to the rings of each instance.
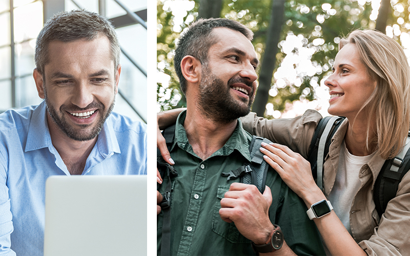
[[[51,176],[44,256],[147,255],[147,176]]]

